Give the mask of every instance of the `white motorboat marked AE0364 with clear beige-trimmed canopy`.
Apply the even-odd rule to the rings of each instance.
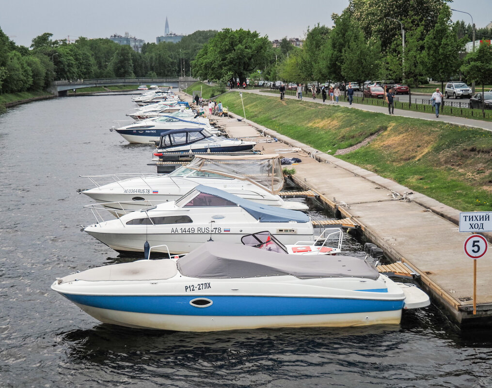
[[[304,203],[284,201],[279,197],[284,178],[278,154],[200,155],[168,175],[118,174],[87,178],[95,187],[78,192],[97,203],[112,204],[111,207],[107,205],[108,209],[115,211],[141,210],[174,201],[198,184],[219,188],[263,205],[308,209]]]

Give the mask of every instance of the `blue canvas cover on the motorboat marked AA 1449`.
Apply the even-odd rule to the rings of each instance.
[[[309,222],[309,216],[299,210],[283,209],[274,206],[261,205],[248,199],[240,198],[237,195],[228,193],[215,187],[204,186],[203,184],[199,184],[198,186],[196,186],[195,190],[233,202],[241,208],[245,209],[249,214],[251,214],[260,222]]]

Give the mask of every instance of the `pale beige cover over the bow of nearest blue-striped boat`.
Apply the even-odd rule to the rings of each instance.
[[[59,284],[75,280],[104,281],[104,280],[159,280],[169,279],[176,275],[174,260],[138,260],[132,263],[113,264],[96,267],[82,272],[67,275]]]

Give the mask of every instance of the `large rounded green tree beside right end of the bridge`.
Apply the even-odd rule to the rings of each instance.
[[[193,73],[214,80],[230,73],[242,84],[248,74],[268,63],[270,47],[268,37],[256,31],[223,29],[198,52],[191,64]]]

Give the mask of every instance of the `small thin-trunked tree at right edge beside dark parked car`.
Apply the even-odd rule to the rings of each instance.
[[[461,71],[467,80],[482,85],[482,101],[484,101],[484,86],[492,83],[492,46],[483,42],[474,53],[469,53],[461,66]],[[482,104],[484,112],[485,104]]]

